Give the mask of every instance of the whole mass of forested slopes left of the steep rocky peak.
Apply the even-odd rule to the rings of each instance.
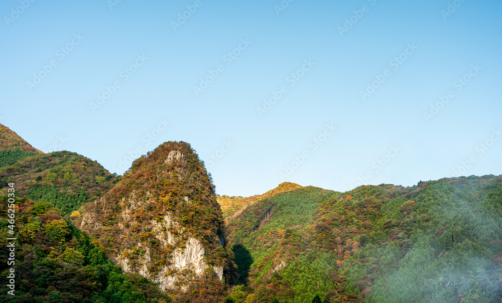
[[[152,281],[122,273],[96,239],[68,218],[72,212],[77,216],[74,210],[107,192],[119,178],[76,153],[43,154],[4,125],[0,131],[0,257],[11,258],[0,264],[6,281],[0,301],[169,302]],[[14,252],[6,249],[12,243]],[[11,270],[15,296],[8,292]]]

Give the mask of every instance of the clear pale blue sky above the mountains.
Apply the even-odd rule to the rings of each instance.
[[[501,10],[4,0],[0,123],[119,175],[186,141],[220,195],[501,175]]]

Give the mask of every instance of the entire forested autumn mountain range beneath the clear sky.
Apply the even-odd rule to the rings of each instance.
[[[2,129],[2,302],[502,301],[502,176],[218,196],[185,142],[116,176]]]

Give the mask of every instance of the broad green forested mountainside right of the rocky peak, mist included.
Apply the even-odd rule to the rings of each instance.
[[[502,176],[297,189],[230,217],[227,238],[233,302],[502,301]]]

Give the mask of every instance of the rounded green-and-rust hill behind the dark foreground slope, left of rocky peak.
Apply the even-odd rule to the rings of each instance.
[[[0,193],[14,182],[20,197],[50,201],[69,215],[114,186],[118,179],[96,161],[70,151],[33,154],[0,167]]]

